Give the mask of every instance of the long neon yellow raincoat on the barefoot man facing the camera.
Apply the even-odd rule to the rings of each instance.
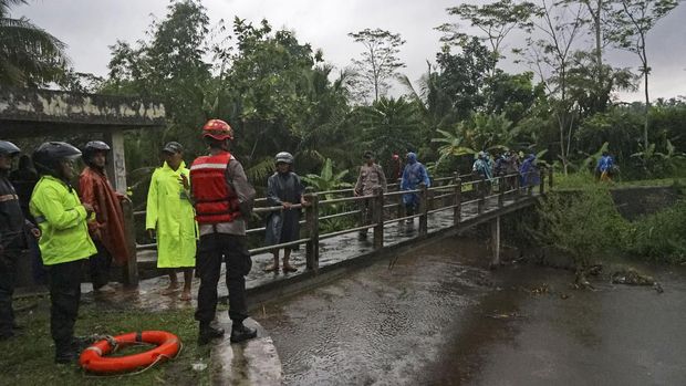
[[[145,229],[157,232],[157,268],[188,268],[196,264],[198,226],[184,189],[181,174],[190,182],[186,164],[173,170],[167,163],[155,169],[147,192]]]

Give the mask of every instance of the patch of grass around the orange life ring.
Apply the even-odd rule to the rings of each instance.
[[[113,310],[112,305],[82,301],[76,321],[76,335],[118,335],[134,331],[164,330],[184,343],[181,353],[172,362],[157,364],[142,374],[97,376],[83,372],[76,364],[55,365],[50,337],[50,299],[28,298],[14,302],[21,335],[0,342],[0,385],[208,385],[210,347],[198,347],[197,324],[191,307],[159,312],[131,309]],[[138,351],[141,348],[138,347]],[[136,348],[127,348],[133,354]],[[201,372],[194,363],[207,364]]]

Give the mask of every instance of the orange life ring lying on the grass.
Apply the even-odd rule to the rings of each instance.
[[[155,344],[157,347],[133,355],[105,357],[115,347],[136,343]],[[93,343],[81,353],[79,364],[92,373],[125,373],[150,366],[159,361],[174,358],[180,350],[180,345],[179,338],[166,331],[128,333]]]

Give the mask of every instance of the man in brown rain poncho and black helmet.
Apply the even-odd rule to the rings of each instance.
[[[128,260],[126,232],[124,231],[124,212],[122,201],[128,200],[117,194],[110,185],[105,174],[110,146],[102,140],[91,140],[83,149],[86,167],[79,176],[81,202],[89,204],[95,210],[95,219],[89,221],[91,239],[97,253],[90,259],[91,282],[96,292],[112,292],[110,268],[112,260],[124,265]]]

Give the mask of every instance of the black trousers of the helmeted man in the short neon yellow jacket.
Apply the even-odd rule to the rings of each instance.
[[[50,278],[50,333],[58,353],[71,348],[81,301],[83,260],[46,265]]]

